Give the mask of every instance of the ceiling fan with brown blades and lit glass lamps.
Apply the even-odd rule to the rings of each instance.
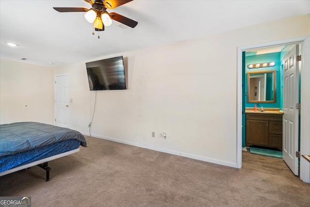
[[[85,18],[88,22],[93,23],[96,31],[104,31],[105,26],[112,24],[112,20],[121,22],[128,27],[134,28],[138,22],[119,15],[115,12],[107,12],[107,9],[114,9],[132,0],[84,0],[92,5],[92,8],[87,9],[84,7],[53,7],[58,12],[86,12]],[[93,32],[94,34],[94,32]],[[99,35],[98,35],[98,38]]]

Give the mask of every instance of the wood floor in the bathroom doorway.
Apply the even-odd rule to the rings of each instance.
[[[242,168],[251,168],[284,176],[294,175],[283,159],[253,155],[249,150],[247,152],[242,151]]]

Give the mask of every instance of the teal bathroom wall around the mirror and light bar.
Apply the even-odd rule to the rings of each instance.
[[[269,63],[269,62],[275,62],[276,65],[273,67],[267,67],[267,68],[259,68],[259,69],[249,69],[248,64],[257,64],[257,63]],[[256,71],[263,71],[263,70],[276,70],[277,71],[277,95],[276,95],[276,102],[275,103],[259,103],[259,107],[263,106],[264,108],[280,108],[281,103],[281,78],[280,78],[280,68],[281,68],[281,62],[280,62],[280,52],[274,52],[274,53],[268,53],[268,54],[261,54],[261,55],[251,55],[247,56],[246,53],[246,65],[245,65],[245,91],[247,96],[247,87],[248,87],[248,81],[247,81],[247,73],[248,72],[256,72]],[[246,97],[246,107],[253,108],[256,103],[248,103],[247,97]]]

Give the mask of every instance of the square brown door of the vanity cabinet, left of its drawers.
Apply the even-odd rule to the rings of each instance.
[[[268,146],[269,145],[269,122],[247,120],[246,143]]]

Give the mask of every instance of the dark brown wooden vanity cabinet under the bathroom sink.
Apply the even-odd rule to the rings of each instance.
[[[282,151],[282,114],[246,113],[246,146],[275,147]]]

